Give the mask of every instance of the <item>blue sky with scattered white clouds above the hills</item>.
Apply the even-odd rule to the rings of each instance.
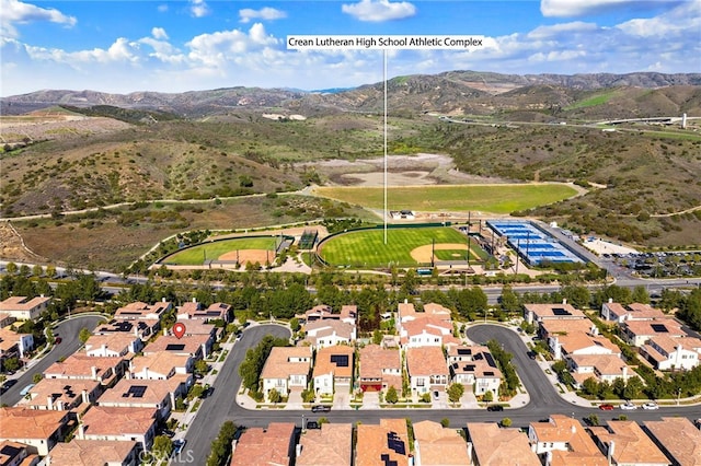
[[[288,35],[482,35],[476,50],[392,50],[390,77],[701,72],[701,0],[0,0],[0,95],[382,80],[378,50],[288,50]]]

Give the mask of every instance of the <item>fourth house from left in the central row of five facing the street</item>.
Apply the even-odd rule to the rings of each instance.
[[[407,348],[406,372],[411,389],[420,395],[432,391],[444,392],[450,376],[440,347]]]

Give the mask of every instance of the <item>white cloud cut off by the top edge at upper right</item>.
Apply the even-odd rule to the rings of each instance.
[[[659,5],[678,4],[679,0],[541,0],[543,16],[574,18],[611,10],[650,10]]]

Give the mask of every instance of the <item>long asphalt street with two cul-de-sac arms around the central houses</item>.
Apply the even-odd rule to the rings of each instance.
[[[701,406],[686,406],[683,412],[679,408],[663,407],[656,411],[637,409],[635,411],[601,411],[597,408],[587,408],[573,405],[563,399],[555,387],[548,381],[537,361],[527,356],[527,347],[519,336],[501,325],[475,325],[468,329],[468,338],[476,343],[483,343],[491,339],[502,342],[504,349],[514,354],[514,364],[518,375],[530,394],[530,403],[518,408],[508,408],[503,412],[490,412],[485,409],[378,409],[378,410],[332,410],[323,415],[314,415],[308,410],[250,410],[239,406],[235,394],[241,384],[238,368],[245,351],[254,347],[264,335],[272,334],[277,337],[288,337],[286,328],[277,325],[261,325],[249,328],[233,350],[229,353],[222,370],[214,383],[215,392],[207,398],[198,410],[197,417],[189,426],[185,439],[187,444],[181,455],[181,461],[174,458],[172,464],[187,464],[194,458],[197,464],[204,464],[210,451],[211,442],[219,434],[219,429],[225,421],[233,421],[239,427],[266,427],[269,422],[294,422],[301,426],[302,416],[306,419],[317,419],[321,416],[330,422],[379,423],[381,418],[411,418],[413,422],[433,420],[440,422],[449,419],[450,426],[461,427],[467,422],[498,422],[505,417],[513,421],[514,427],[525,428],[530,422],[547,419],[552,413],[573,416],[584,420],[589,415],[597,415],[601,422],[612,420],[622,413],[630,420],[641,422],[643,420],[658,420],[663,416],[679,416],[689,419],[701,417]]]

